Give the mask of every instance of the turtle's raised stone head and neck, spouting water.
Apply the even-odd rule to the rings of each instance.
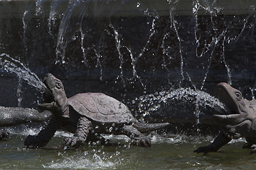
[[[57,79],[53,74],[46,74],[43,79],[43,83],[46,84],[47,89],[50,91],[50,94],[53,96],[55,101],[55,106],[60,108],[61,111],[66,106],[68,98],[65,94],[63,83],[60,79]]]

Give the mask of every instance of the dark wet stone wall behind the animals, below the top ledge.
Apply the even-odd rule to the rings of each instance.
[[[49,18],[32,13],[23,20],[1,18],[0,55],[20,61],[41,79],[53,73],[63,80],[68,97],[102,92],[126,103],[134,115],[137,103],[132,101],[145,94],[191,87],[214,95],[220,81],[231,82],[245,97],[254,97],[255,15],[73,17],[69,21],[55,16],[54,20],[50,24]],[[65,47],[58,45],[61,29],[67,30]],[[0,96],[1,106],[18,106],[22,98],[20,106],[36,108],[43,101],[41,91],[3,68]],[[196,123],[196,118],[186,118],[195,112],[193,106],[170,103],[168,107],[177,108],[171,111],[179,121]],[[161,109],[154,121],[164,120],[157,118],[166,112]],[[210,114],[201,113],[201,123],[207,124]]]

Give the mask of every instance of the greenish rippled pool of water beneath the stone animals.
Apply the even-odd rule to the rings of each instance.
[[[66,136],[65,134],[64,136]],[[43,149],[26,149],[26,135],[11,134],[0,142],[1,169],[254,169],[256,155],[242,149],[244,140],[233,140],[219,152],[196,154],[213,137],[150,135],[151,148],[129,147],[124,136],[109,136],[122,146],[84,145],[61,149],[63,134],[55,135]]]

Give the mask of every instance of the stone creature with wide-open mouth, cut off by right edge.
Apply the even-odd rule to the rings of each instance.
[[[217,152],[230,140],[245,137],[247,143],[242,148],[250,148],[251,153],[256,153],[256,100],[242,98],[238,89],[226,83],[217,85],[217,95],[230,111],[225,115],[213,115],[222,130],[213,143],[199,147],[194,152]]]

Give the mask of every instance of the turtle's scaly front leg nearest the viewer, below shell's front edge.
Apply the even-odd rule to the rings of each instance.
[[[92,123],[85,117],[80,117],[78,126],[73,137],[67,137],[63,140],[63,145],[67,147],[80,147],[85,143],[87,135],[92,128]]]

